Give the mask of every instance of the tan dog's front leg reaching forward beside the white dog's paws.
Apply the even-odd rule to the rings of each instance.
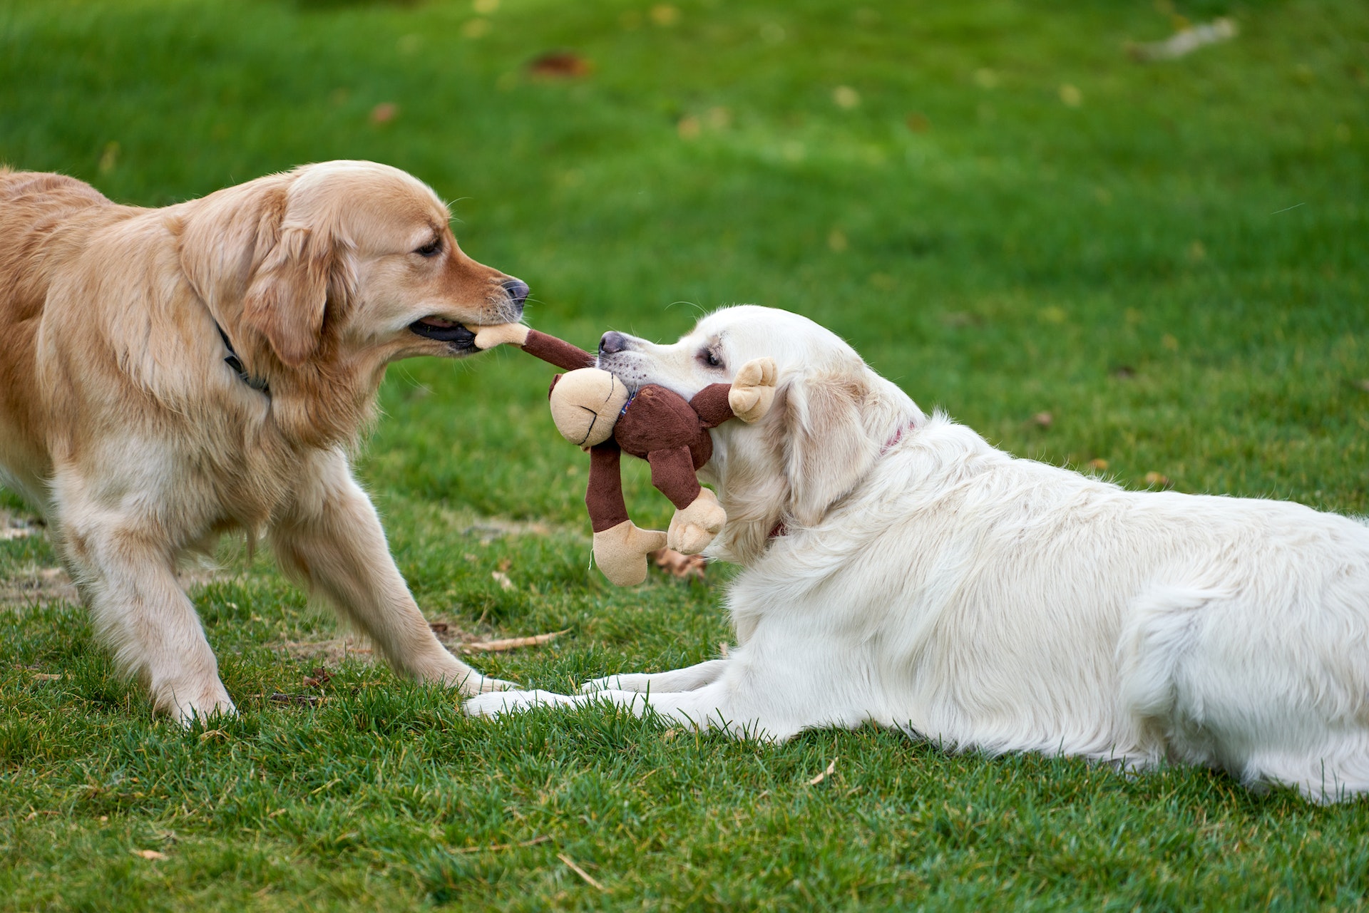
[[[394,567],[381,520],[346,457],[330,453],[319,460],[318,480],[271,531],[281,564],[327,597],[397,672],[456,686],[467,695],[508,687],[442,646]]]

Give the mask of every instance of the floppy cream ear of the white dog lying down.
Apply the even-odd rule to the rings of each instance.
[[[789,513],[804,526],[820,523],[875,463],[879,449],[861,415],[868,394],[857,372],[797,374],[780,382]]]

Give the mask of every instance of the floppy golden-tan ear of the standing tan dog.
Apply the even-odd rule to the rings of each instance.
[[[259,248],[270,237],[257,238]],[[350,256],[329,231],[286,226],[275,235],[242,300],[242,319],[271,344],[281,361],[304,364],[319,345],[329,301],[355,287]]]

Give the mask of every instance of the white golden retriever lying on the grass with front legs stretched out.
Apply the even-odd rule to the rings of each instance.
[[[691,396],[772,356],[775,407],[701,476],[745,567],[723,660],[483,694],[611,701],[784,739],[899,727],[958,749],[1224,768],[1318,801],[1369,790],[1369,528],[1253,498],[1125,491],[927,415],[832,333],[758,307],[600,364]]]

